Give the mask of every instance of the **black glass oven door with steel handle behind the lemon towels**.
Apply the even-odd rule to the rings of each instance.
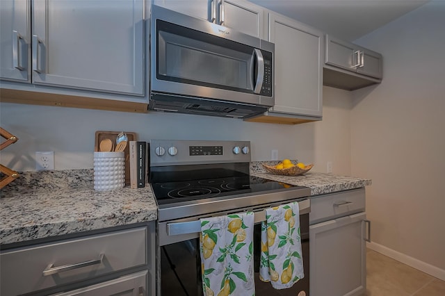
[[[309,199],[299,202],[299,205],[305,277],[300,279],[292,288],[284,290],[275,290],[270,283],[264,283],[259,279],[261,220],[265,220],[265,215],[263,215],[264,211],[254,211],[254,281],[255,295],[257,296],[309,295]],[[273,206],[276,206],[276,204]],[[239,212],[240,209],[237,209],[236,213]],[[218,215],[224,214],[218,213]],[[161,271],[158,279],[159,295],[204,295],[202,292],[200,242],[198,238],[200,231],[199,218],[160,222],[158,227],[160,247],[157,257]]]

